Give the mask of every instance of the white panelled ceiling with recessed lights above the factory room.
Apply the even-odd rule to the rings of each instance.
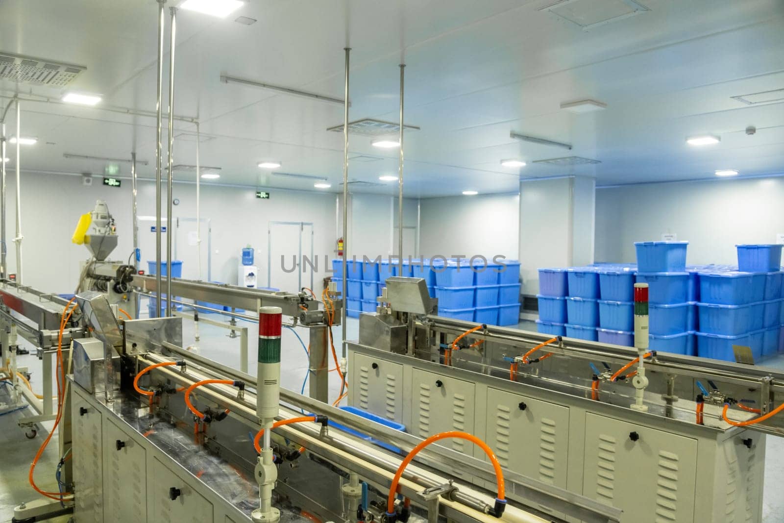
[[[572,0],[566,7],[599,13],[623,1]],[[784,2],[640,0],[649,11],[588,31],[541,9],[554,2],[249,0],[225,20],[180,10],[175,113],[197,118],[211,137],[201,143],[201,165],[222,167],[221,183],[312,188],[312,181],[256,167],[278,160],[276,170],[324,176],[339,191],[343,135],[326,129],[343,122],[342,106],[224,84],[220,75],[342,98],[348,44],[352,121],[397,121],[401,56],[407,64],[405,121],[421,128],[405,138],[405,193],[412,197],[517,191],[521,176],[578,174],[607,185],[713,177],[715,169],[784,173],[784,104],[751,107],[731,98],[784,88]],[[241,25],[237,16],[258,22]],[[155,119],[100,107],[155,110],[156,35],[153,0],[0,2],[0,51],[86,66],[71,90],[104,96],[96,108],[23,102],[22,134],[39,139],[24,148],[23,169],[103,173],[106,162],[63,154],[124,158],[135,149],[149,162],[140,176],[154,177]],[[167,50],[168,38],[167,28]],[[168,62],[166,53],[164,107]],[[0,80],[0,101],[16,89]],[[43,86],[18,89],[28,97],[62,95]],[[583,99],[608,107],[560,109]],[[747,136],[747,125],[757,133]],[[189,122],[175,127],[195,132]],[[573,149],[520,142],[510,131]],[[700,133],[720,135],[721,143],[684,143]],[[370,142],[350,136],[351,156],[381,158],[350,162],[350,179],[379,184],[362,191],[391,194],[396,183],[378,176],[397,173],[397,150]],[[601,163],[532,163],[570,155]],[[503,158],[529,163],[518,173],[503,168]],[[176,140],[174,162],[195,163],[192,139]]]

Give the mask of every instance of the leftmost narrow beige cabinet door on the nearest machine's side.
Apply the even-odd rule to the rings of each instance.
[[[76,389],[77,387],[72,387]],[[71,400],[71,438],[74,459],[74,519],[80,523],[103,521],[103,438],[101,412],[79,394]]]

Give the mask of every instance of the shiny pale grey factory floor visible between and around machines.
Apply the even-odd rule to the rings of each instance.
[[[217,321],[227,321],[226,317],[217,314],[205,316]],[[256,375],[255,365],[255,344],[253,343],[254,334],[257,329],[255,323],[240,321],[238,327],[249,329],[249,373]],[[359,322],[353,318],[347,321],[347,338],[356,340],[358,337]],[[526,325],[521,327],[529,328]],[[333,329],[335,337],[335,347],[338,358],[340,357],[341,327]],[[220,329],[212,325],[200,324],[201,340],[198,343],[200,354],[220,361],[225,365],[233,367],[239,366],[239,337],[230,338],[227,329]],[[307,345],[307,329],[296,329],[303,343]],[[183,320],[183,345],[194,344],[193,322]],[[284,329],[282,335],[281,353],[281,384],[283,387],[300,390],[303,378],[307,372],[307,358],[305,351],[299,344],[296,336],[289,330]],[[31,347],[28,347],[31,348]],[[32,372],[32,386],[37,392],[41,392],[41,363],[34,356],[20,356],[19,365],[27,367]],[[776,369],[784,369],[784,354],[762,362],[762,365]],[[332,365],[330,366],[332,369]],[[337,372],[330,372],[330,394],[329,398],[334,401],[338,396],[340,380]],[[5,387],[0,387],[0,402],[7,400]],[[345,403],[345,401],[343,402]],[[0,521],[10,521],[13,516],[13,507],[24,501],[35,498],[35,492],[27,484],[27,473],[30,469],[38,447],[47,435],[47,430],[51,423],[45,424],[39,431],[38,437],[33,440],[24,437],[24,431],[16,425],[17,419],[23,416],[31,416],[32,411],[13,412],[5,416],[0,416]],[[779,523],[784,521],[784,496],[780,495],[784,488],[784,438],[774,438],[769,436],[767,443],[767,458],[765,463],[764,480],[764,523]],[[49,447],[42,455],[36,468],[36,482],[39,487],[45,490],[56,490],[54,470],[60,456],[57,456],[56,435],[49,442]],[[54,518],[50,521],[64,522],[67,517]]]

